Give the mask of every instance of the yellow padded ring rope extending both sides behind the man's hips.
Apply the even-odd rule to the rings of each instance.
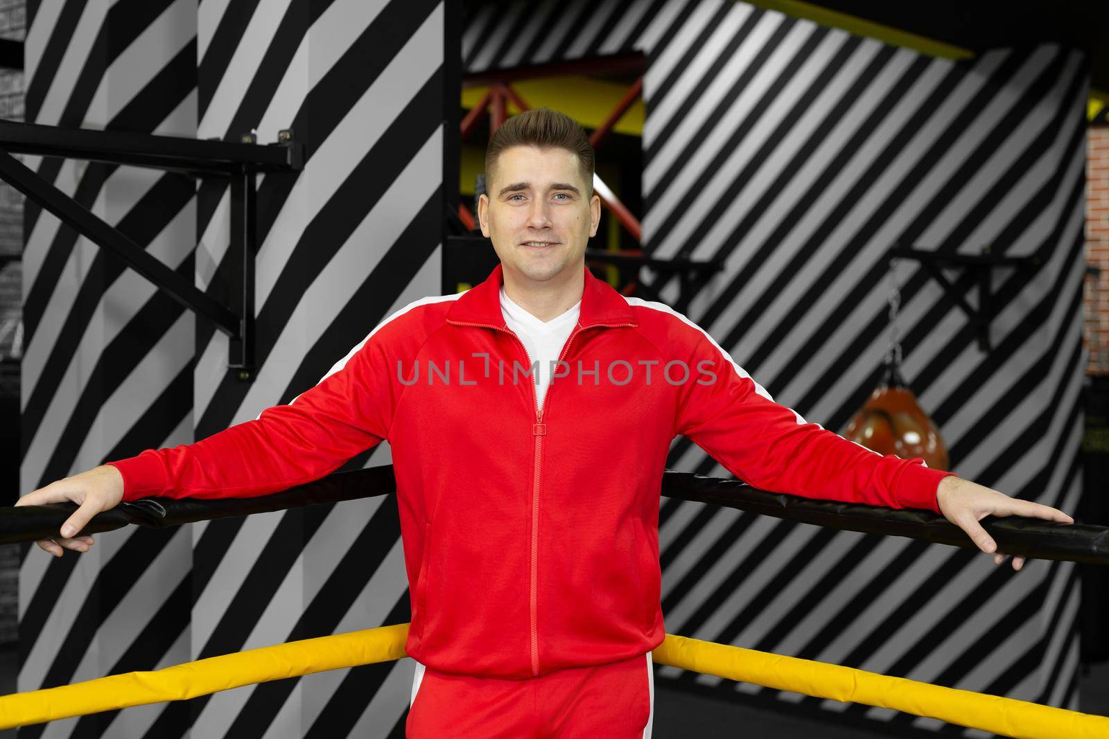
[[[405,656],[407,636],[408,624],[383,626],[208,657],[150,673],[112,675],[2,696],[0,729],[184,700],[256,682],[399,659]],[[1109,736],[1109,718],[1101,716],[672,634],[667,635],[652,657],[661,665],[816,698],[892,708],[1019,739]]]

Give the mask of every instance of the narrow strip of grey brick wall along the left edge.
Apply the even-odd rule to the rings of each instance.
[[[26,31],[26,0],[0,0],[0,38],[22,41]],[[0,69],[0,119],[23,120],[23,73]],[[0,256],[18,256],[23,252],[23,197],[0,182]],[[0,423],[19,428],[19,343],[14,330],[21,315],[22,265],[19,259],[0,259]],[[10,417],[10,418],[9,418]],[[10,441],[4,437],[6,443]],[[19,469],[13,455],[6,454],[0,470],[0,485],[9,499],[19,485]],[[8,505],[10,500],[0,504]],[[0,546],[0,645],[16,640],[16,598],[19,591],[19,545]],[[45,555],[44,555],[45,556]]]

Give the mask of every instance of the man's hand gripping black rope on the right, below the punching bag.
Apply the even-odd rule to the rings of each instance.
[[[979,550],[993,554],[994,564],[998,565],[1005,562],[1006,554],[997,551],[997,543],[978,523],[986,516],[1016,515],[1075,523],[1074,519],[1058,509],[1019,497],[1009,497],[1005,493],[954,475],[947,475],[939,481],[936,500],[947,520],[965,531]],[[1020,569],[1024,564],[1024,557],[1013,557],[1014,569]]]

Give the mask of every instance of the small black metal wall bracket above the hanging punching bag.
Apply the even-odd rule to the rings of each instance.
[[[981,247],[980,254],[929,252],[927,249],[897,246],[889,249],[888,258],[916,259],[919,261],[925,271],[932,275],[944,288],[947,297],[962,308],[963,312],[970,319],[971,326],[975,327],[978,333],[978,348],[986,352],[990,351],[989,325],[994,321],[994,292],[990,289],[991,270],[998,267],[1037,269],[1041,261],[1039,256],[1008,257],[997,255],[988,246]],[[977,309],[967,302],[966,296],[959,292],[955,284],[940,271],[944,268],[969,269],[975,273],[975,283],[978,286]]]

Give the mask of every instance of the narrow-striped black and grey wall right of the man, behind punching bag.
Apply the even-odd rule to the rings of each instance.
[[[725,0],[491,3],[464,35],[469,71],[637,50],[648,57],[644,247],[724,260],[690,318],[807,420],[842,431],[877,383],[888,248],[1041,258],[1036,270],[994,275],[988,355],[939,285],[903,263],[904,369],[954,471],[1074,512],[1081,55],[1038,45],[954,62]],[[948,275],[976,305],[973,277]],[[676,298],[676,285],[657,287]],[[729,475],[686,440],[670,466]],[[1014,574],[970,551],[670,500],[660,537],[669,633],[1077,708],[1070,564],[1034,561]],[[691,690],[837,711],[893,735],[944,728],[658,671]]]

